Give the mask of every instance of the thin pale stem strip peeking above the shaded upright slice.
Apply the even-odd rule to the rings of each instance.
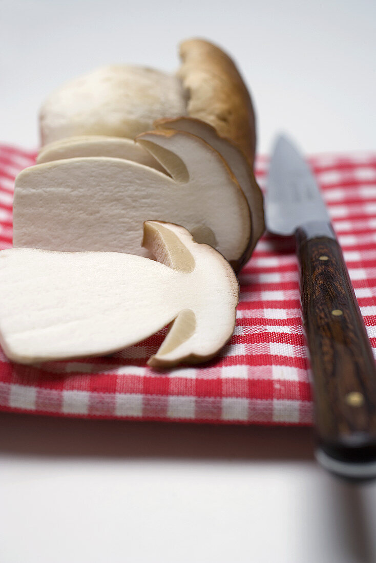
[[[163,171],[156,159],[133,140],[105,135],[68,137],[51,142],[39,151],[37,164],[77,157],[125,158]]]

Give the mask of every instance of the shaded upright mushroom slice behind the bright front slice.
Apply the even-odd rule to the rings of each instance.
[[[145,220],[173,222],[236,264],[251,233],[247,200],[220,154],[183,131],[138,137],[171,177],[118,158],[37,164],[15,183],[14,245],[57,251],[141,248]]]

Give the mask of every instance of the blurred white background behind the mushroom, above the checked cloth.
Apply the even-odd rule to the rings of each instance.
[[[375,148],[373,0],[0,1],[0,142],[33,148],[39,105],[103,64],[178,67],[179,41],[222,44],[253,93],[259,150],[286,129],[311,152]]]

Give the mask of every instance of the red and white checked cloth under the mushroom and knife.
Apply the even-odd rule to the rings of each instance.
[[[35,154],[0,145],[0,248],[12,244],[14,178]],[[376,352],[376,154],[311,158]],[[263,187],[267,159],[256,173]],[[0,351],[0,409],[68,417],[307,425],[312,403],[287,240],[264,236],[240,275],[235,332],[203,367],[156,372],[165,331],[113,356],[25,367]]]

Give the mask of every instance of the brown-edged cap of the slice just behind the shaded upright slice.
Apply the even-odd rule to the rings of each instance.
[[[209,143],[213,149],[218,150],[219,154],[222,155],[227,162],[247,198],[251,211],[252,237],[248,252],[244,257],[244,261],[248,260],[257,241],[264,233],[265,222],[262,191],[242,151],[227,138],[221,137],[214,127],[209,125],[209,123],[201,121],[201,119],[194,119],[192,117],[158,119],[154,123],[154,126],[158,129],[178,129],[192,133],[192,135],[197,135]]]

